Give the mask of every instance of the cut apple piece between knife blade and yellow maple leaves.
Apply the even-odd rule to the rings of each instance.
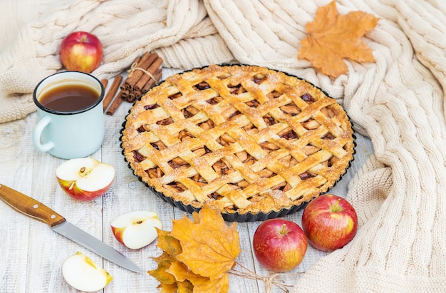
[[[128,248],[138,250],[155,240],[162,224],[156,212],[140,210],[127,212],[111,222],[113,235]]]

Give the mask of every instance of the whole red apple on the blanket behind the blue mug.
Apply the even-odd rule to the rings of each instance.
[[[90,73],[102,61],[103,48],[97,36],[75,31],[63,38],[60,54],[63,66],[69,71]]]

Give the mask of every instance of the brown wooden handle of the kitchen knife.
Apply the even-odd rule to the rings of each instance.
[[[14,210],[22,214],[46,222],[50,227],[61,225],[66,221],[64,217],[43,205],[43,203],[3,184],[0,184],[0,200],[3,200],[13,207]]]

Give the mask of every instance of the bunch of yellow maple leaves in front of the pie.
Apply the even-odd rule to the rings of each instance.
[[[158,267],[148,273],[162,292],[229,291],[228,271],[241,252],[236,223],[226,225],[219,210],[204,205],[192,220],[172,220],[172,231],[157,229],[157,235],[163,252],[153,257]]]

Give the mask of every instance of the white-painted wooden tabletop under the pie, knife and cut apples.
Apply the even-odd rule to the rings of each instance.
[[[163,78],[177,71],[164,69]],[[112,80],[108,83],[110,87]],[[160,216],[163,230],[172,230],[172,219],[185,213],[172,207],[140,183],[125,163],[120,149],[120,129],[130,103],[122,103],[113,116],[105,115],[105,140],[102,148],[91,155],[115,167],[115,181],[102,197],[91,202],[79,202],[68,197],[58,186],[55,170],[65,160],[34,150],[31,137],[37,123],[36,113],[23,120],[0,124],[0,184],[29,195],[66,217],[81,229],[122,252],[145,270],[155,269],[161,250],[156,241],[140,250],[129,250],[112,234],[110,222],[118,215],[133,210],[155,211]],[[373,153],[368,138],[357,134],[355,160],[342,180],[331,193],[345,196],[348,182],[361,168],[365,158]],[[302,210],[285,218],[301,224]],[[261,276],[269,272],[263,269],[251,250],[251,240],[260,222],[237,223],[242,252],[237,262]],[[52,232],[43,222],[33,220],[11,209],[0,201],[0,292],[77,292],[62,277],[64,259],[76,251],[88,255],[113,276],[113,281],[103,292],[158,292],[156,279],[150,274],[138,274],[102,259],[71,240]],[[301,272],[311,267],[325,255],[308,246],[304,261],[289,272],[286,284],[294,284]],[[229,292],[265,292],[261,281],[230,276]],[[273,292],[281,292],[274,288]]]

